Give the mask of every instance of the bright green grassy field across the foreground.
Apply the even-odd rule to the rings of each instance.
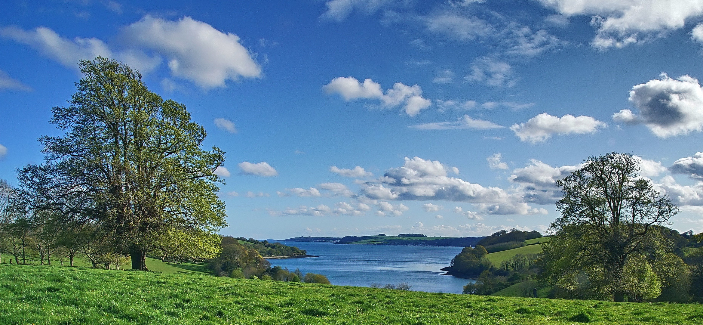
[[[701,324],[700,305],[0,265],[0,324]]]

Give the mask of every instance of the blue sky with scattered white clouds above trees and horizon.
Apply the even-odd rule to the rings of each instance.
[[[226,151],[222,234],[544,231],[611,151],[703,231],[701,0],[223,2],[0,4],[0,178],[101,55]]]

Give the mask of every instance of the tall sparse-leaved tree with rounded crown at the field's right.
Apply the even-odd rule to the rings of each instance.
[[[659,261],[673,255],[664,233],[678,209],[639,176],[629,153],[588,158],[564,179],[555,236],[543,244],[542,279],[579,298],[656,298],[676,270]],[[678,263],[683,265],[683,263]]]

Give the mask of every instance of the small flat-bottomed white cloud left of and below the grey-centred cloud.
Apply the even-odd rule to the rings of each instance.
[[[525,123],[512,125],[510,129],[521,141],[528,141],[532,144],[543,142],[552,137],[553,134],[593,134],[598,129],[607,127],[605,122],[595,120],[590,116],[564,115],[556,117],[547,113],[541,113]]]

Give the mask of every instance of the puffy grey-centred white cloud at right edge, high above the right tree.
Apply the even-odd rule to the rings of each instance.
[[[660,79],[632,87],[629,100],[640,114],[620,110],[613,120],[643,123],[662,139],[703,130],[703,89],[688,75],[672,79],[662,73]]]

